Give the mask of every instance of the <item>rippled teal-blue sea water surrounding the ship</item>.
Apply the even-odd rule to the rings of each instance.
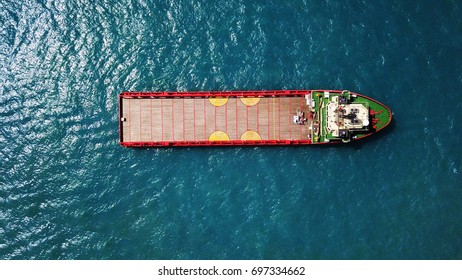
[[[462,259],[460,1],[0,2],[1,259]],[[125,90],[349,89],[335,147],[127,149]]]

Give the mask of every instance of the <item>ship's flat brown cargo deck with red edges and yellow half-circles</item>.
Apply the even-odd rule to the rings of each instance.
[[[119,96],[122,146],[310,144],[309,113],[302,92],[132,93]]]

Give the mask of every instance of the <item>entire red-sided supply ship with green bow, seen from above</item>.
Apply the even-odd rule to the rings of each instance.
[[[124,147],[348,143],[391,119],[387,106],[347,90],[119,94]]]

